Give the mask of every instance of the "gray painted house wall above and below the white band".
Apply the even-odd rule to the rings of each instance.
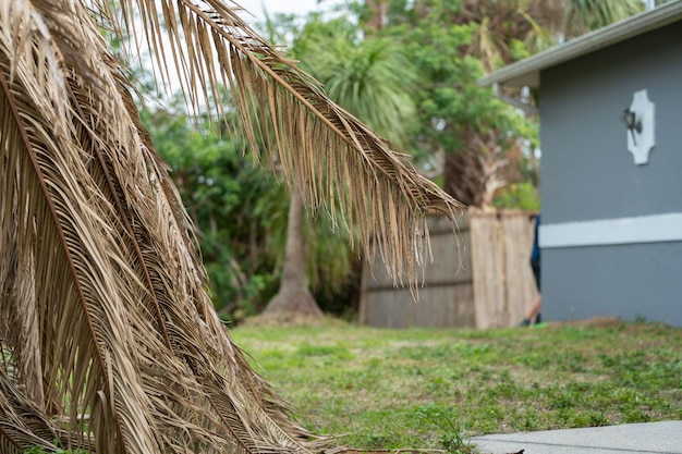
[[[656,148],[635,165],[619,115],[646,88]],[[543,222],[682,212],[682,24],[541,73]],[[682,326],[682,243],[543,250],[550,320],[644,317]]]

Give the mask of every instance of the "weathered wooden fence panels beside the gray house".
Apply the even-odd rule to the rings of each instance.
[[[458,234],[428,220],[434,262],[415,302],[394,287],[383,263],[365,262],[360,322],[380,328],[500,328],[519,323],[537,291],[528,262],[534,213],[471,209]]]

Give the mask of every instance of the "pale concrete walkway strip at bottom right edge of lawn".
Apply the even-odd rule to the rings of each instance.
[[[682,421],[506,433],[468,439],[486,454],[682,454]]]

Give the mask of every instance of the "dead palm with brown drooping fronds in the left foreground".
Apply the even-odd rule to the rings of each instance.
[[[245,122],[258,112],[247,138],[271,128],[265,146],[288,181],[306,182],[313,206],[339,194],[339,222],[395,275],[421,259],[425,212],[458,208],[235,8],[0,3],[0,452],[54,439],[100,453],[309,449],[212,309],[190,220],[102,28],[147,42],[191,103],[230,86]]]

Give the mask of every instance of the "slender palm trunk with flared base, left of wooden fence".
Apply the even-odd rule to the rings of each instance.
[[[287,253],[279,292],[265,308],[264,314],[290,314],[303,317],[321,317],[305,277],[306,249],[303,244],[303,199],[294,188],[289,206],[287,225]]]

